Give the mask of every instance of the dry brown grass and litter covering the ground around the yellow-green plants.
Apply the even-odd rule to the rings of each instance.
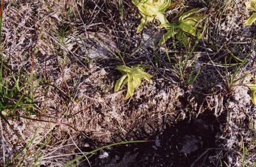
[[[240,78],[255,73],[255,25],[243,27],[249,15],[244,1],[206,2],[211,5],[184,3],[186,8],[205,8],[208,17],[204,39],[180,74],[177,63],[186,60],[189,50],[168,41],[169,62],[164,48],[154,42],[161,36],[158,27],[148,25],[145,33],[136,34],[140,18],[131,1],[123,1],[122,18],[118,1],[8,1],[3,60],[12,74],[33,76],[35,104],[33,112],[6,115],[13,129],[1,120],[1,163],[62,166],[84,148],[148,139],[166,126],[204,114],[214,115],[221,124],[216,147],[223,150],[216,153],[215,164],[220,158],[239,166],[242,142],[248,147],[244,161],[256,161],[256,108],[241,86],[243,80],[230,82],[230,74]],[[180,8],[174,6],[168,17],[175,17]],[[237,64],[234,55],[246,63],[227,67]],[[154,76],[128,101],[125,91],[113,92],[120,76],[115,66],[123,61],[143,64]],[[195,82],[180,79],[182,75],[188,80],[197,70]]]

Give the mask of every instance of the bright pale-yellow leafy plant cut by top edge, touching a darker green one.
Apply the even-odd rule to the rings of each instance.
[[[142,16],[136,33],[140,33],[143,27],[154,19],[160,22],[161,27],[165,27],[169,23],[164,13],[170,7],[170,0],[132,0],[132,3]]]

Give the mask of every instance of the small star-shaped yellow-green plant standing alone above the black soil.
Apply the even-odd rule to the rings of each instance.
[[[117,80],[115,85],[115,92],[119,91],[122,85],[127,84],[127,94],[125,99],[129,99],[134,93],[135,89],[140,87],[141,80],[145,79],[150,82],[151,76],[144,72],[144,69],[139,65],[131,66],[131,68],[124,65],[116,66],[116,69],[121,71],[123,76]]]

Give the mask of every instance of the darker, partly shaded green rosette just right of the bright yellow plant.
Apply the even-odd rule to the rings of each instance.
[[[185,47],[189,46],[189,36],[197,36],[202,38],[203,22],[205,15],[200,14],[200,8],[186,11],[179,17],[176,23],[167,24],[167,33],[159,41],[159,46],[163,45],[170,38],[177,38]]]

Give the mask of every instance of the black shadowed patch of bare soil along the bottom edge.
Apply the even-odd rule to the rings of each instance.
[[[92,166],[218,166],[218,162],[212,161],[212,157],[218,152],[216,135],[221,131],[219,120],[220,118],[216,119],[210,115],[202,115],[195,120],[184,120],[166,127],[163,133],[157,136],[148,136],[149,142],[102,150],[90,159],[90,164]],[[89,164],[85,161],[81,166],[89,166]]]

